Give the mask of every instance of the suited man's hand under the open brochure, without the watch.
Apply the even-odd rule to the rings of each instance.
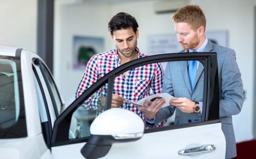
[[[152,103],[149,103],[148,100],[145,101],[144,107],[136,105],[138,109],[144,113],[147,119],[154,119],[158,110],[165,104],[164,99],[156,99]]]

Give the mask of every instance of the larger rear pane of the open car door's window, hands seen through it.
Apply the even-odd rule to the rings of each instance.
[[[116,76],[113,94],[124,99],[124,102],[114,106],[131,110],[144,121],[145,114],[150,114],[148,118],[155,117],[147,120],[146,123],[153,124],[147,124],[148,128],[201,121],[202,114],[194,113],[193,101],[200,102],[202,111],[204,67],[201,62],[195,61],[194,64],[194,88],[191,88],[187,61],[147,64]],[[156,97],[158,102],[153,102]],[[145,106],[146,99],[148,107]],[[163,99],[165,104],[158,109],[157,104]],[[158,113],[155,115],[148,111]]]

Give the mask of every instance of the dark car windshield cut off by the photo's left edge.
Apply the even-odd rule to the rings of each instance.
[[[0,56],[0,138],[24,136],[27,132],[20,59]]]

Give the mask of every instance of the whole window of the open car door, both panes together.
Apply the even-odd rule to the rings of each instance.
[[[163,66],[165,68],[163,68]],[[197,63],[197,67],[198,71],[201,71],[202,73],[204,68],[201,62]],[[172,68],[172,70],[170,68]],[[120,108],[128,109],[135,114],[138,114],[144,122],[146,119],[145,114],[140,111],[136,104],[144,106],[145,101],[143,103],[140,103],[140,101],[146,99],[146,97],[153,96],[152,98],[148,98],[148,104],[153,102],[153,99],[156,98],[155,96],[165,99],[165,107],[169,107],[170,104],[168,103],[172,99],[171,96],[175,98],[194,98],[199,102],[203,102],[204,75],[200,74],[196,77],[195,80],[198,82],[195,84],[196,87],[193,91],[198,92],[198,94],[196,97],[191,97],[192,90],[190,88],[189,77],[186,77],[183,74],[183,71],[187,68],[187,61],[151,63],[129,69],[128,71],[116,76],[113,87],[108,87],[107,84],[104,85],[95,91],[91,97],[87,98],[85,102],[73,113],[69,138],[73,139],[90,136],[91,122],[104,111],[104,109],[101,109],[98,106],[98,98],[106,97],[108,89],[112,89],[113,96],[115,95],[123,100],[123,102],[119,104]],[[188,78],[188,83],[183,83],[183,80],[180,80],[183,78]],[[162,90],[163,86],[164,90]],[[189,87],[189,89],[187,87]],[[171,96],[165,97],[162,93],[167,93]],[[178,118],[174,120],[173,116],[181,114],[179,110],[175,111],[174,109],[171,113],[172,115],[170,115],[170,117],[172,118],[160,121],[153,127],[202,121],[202,114],[198,115],[198,118],[196,119],[190,117],[190,122],[184,122],[179,121]],[[187,120],[189,120],[189,117]],[[145,125],[145,127],[150,128],[147,125]]]

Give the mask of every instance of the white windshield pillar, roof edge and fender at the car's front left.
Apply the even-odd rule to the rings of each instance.
[[[0,55],[14,56],[16,48],[0,47]],[[10,159],[37,159],[48,154],[41,128],[38,110],[36,87],[32,70],[32,59],[41,59],[32,51],[23,49],[20,54],[23,82],[23,95],[26,114],[27,137],[15,139],[1,139],[1,155]],[[4,155],[6,154],[6,155]],[[50,154],[50,153],[49,153]],[[46,155],[48,158],[51,156]]]

